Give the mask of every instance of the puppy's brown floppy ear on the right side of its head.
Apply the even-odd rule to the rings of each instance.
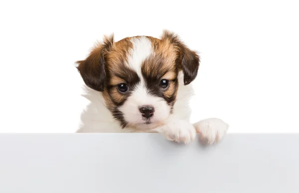
[[[187,46],[179,40],[178,36],[172,32],[164,30],[161,39],[169,41],[176,47],[176,65],[179,70],[183,71],[184,85],[189,85],[197,76],[200,63],[198,54],[187,48]]]

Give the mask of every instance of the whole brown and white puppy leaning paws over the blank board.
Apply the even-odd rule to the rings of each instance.
[[[78,132],[159,132],[186,144],[197,131],[212,144],[228,129],[217,118],[189,122],[190,83],[200,58],[172,32],[164,30],[160,39],[134,36],[117,42],[105,36],[76,63],[90,100]]]

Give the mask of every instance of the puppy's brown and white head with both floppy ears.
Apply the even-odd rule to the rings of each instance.
[[[182,71],[184,85],[195,79],[199,56],[175,34],[163,31],[160,39],[135,36],[115,42],[113,35],[105,36],[77,63],[85,84],[103,93],[123,128],[151,129],[172,113],[178,73]]]

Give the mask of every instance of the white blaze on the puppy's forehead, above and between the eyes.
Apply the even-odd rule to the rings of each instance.
[[[141,65],[143,61],[152,53],[151,42],[147,37],[132,38],[133,49],[130,50],[129,66],[138,74],[142,79]]]

